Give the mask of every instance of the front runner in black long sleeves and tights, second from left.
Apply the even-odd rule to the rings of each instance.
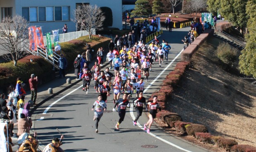
[[[123,121],[124,117],[126,116],[126,108],[130,108],[130,104],[129,104],[129,100],[127,99],[128,94],[125,93],[123,94],[123,99],[119,99],[114,108],[113,111],[116,111],[115,108],[116,106],[118,106],[118,114],[119,114],[119,121],[116,123],[116,129],[119,129],[119,125],[121,124],[121,122]]]

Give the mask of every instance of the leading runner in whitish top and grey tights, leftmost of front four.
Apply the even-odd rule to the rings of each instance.
[[[92,106],[92,111],[93,111],[94,107],[95,107],[95,110],[94,110],[93,120],[96,120],[95,128],[96,128],[96,133],[98,133],[98,125],[99,125],[100,118],[102,117],[103,112],[106,111],[106,109],[107,109],[107,105],[102,100],[101,95],[98,95],[98,100],[94,102],[94,104]]]

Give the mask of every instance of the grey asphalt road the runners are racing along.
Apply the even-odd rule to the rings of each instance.
[[[180,52],[183,49],[184,36],[189,28],[164,31],[159,40],[166,39],[171,44],[171,54],[165,64],[154,62],[149,81],[146,83],[144,97],[148,99],[151,94],[159,90],[162,81],[172,71],[175,64],[180,61]],[[113,72],[113,71],[112,71]],[[133,119],[136,113],[133,108],[127,108],[126,117],[120,124],[120,129],[115,129],[115,124],[119,120],[117,112],[111,111],[114,107],[113,92],[108,97],[107,112],[104,113],[99,122],[99,133],[95,133],[95,121],[92,120],[94,112],[91,111],[92,104],[97,100],[97,93],[93,89],[94,82],[91,82],[89,94],[82,91],[82,82],[74,85],[68,90],[58,94],[54,98],[46,101],[33,115],[33,129],[38,133],[40,140],[40,150],[51,142],[53,137],[60,138],[56,128],[65,136],[64,144],[61,146],[66,152],[149,152],[149,151],[169,151],[169,152],[206,152],[201,147],[188,143],[180,138],[165,132],[154,123],[151,134],[142,130],[143,124],[148,120],[144,112],[138,120],[137,126],[133,126]],[[134,97],[135,95],[133,95]],[[122,95],[121,95],[122,97]],[[43,114],[45,113],[45,114]],[[140,125],[141,124],[141,125]],[[156,148],[144,148],[142,145],[156,145]]]

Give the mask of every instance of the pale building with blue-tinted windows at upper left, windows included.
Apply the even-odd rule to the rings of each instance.
[[[0,0],[0,21],[18,14],[27,19],[29,26],[42,26],[43,33],[62,29],[64,24],[68,32],[74,32],[73,11],[82,3],[109,7],[113,14],[112,27],[122,29],[122,0]]]

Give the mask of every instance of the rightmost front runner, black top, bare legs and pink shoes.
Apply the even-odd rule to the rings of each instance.
[[[153,102],[149,104],[149,115],[148,115],[149,121],[147,122],[147,124],[144,124],[144,130],[145,131],[147,130],[148,134],[150,133],[150,127],[154,122],[154,118],[156,118],[157,109],[161,111],[161,107],[157,103],[157,96],[153,96]],[[149,125],[148,129],[147,129],[147,125]]]

